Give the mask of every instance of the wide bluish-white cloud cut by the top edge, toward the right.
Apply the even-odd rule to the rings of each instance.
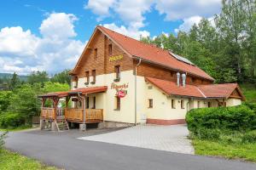
[[[211,17],[221,10],[222,0],[159,0],[155,8],[166,20],[183,20],[191,16]]]

